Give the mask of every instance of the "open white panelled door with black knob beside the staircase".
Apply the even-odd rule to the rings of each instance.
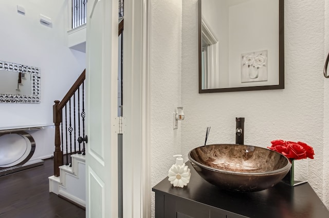
[[[89,0],[86,40],[86,217],[118,217],[118,1]]]

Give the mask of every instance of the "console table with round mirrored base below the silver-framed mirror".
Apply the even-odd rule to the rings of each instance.
[[[0,142],[1,140],[4,140],[4,137],[7,137],[7,141],[20,143],[14,145],[10,143],[0,144],[0,175],[5,175],[34,166],[43,165],[42,160],[30,161],[30,158],[32,157],[35,150],[35,141],[32,135],[29,134],[29,131],[40,129],[43,129],[43,127],[33,126],[13,129],[0,129]]]

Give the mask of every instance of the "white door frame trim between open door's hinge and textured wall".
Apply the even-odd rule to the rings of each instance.
[[[123,217],[151,217],[150,0],[124,1]]]

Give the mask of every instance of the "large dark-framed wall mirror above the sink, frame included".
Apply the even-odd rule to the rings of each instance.
[[[284,0],[198,0],[199,93],[284,89]]]

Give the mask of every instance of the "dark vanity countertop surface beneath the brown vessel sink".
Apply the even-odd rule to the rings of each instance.
[[[231,192],[206,182],[191,169],[190,183],[173,187],[168,177],[153,187],[156,195],[170,195],[214,208],[254,218],[325,218],[329,211],[308,183],[289,186],[283,182],[258,192]],[[156,202],[157,204],[157,202]],[[157,206],[156,206],[157,210]],[[156,211],[156,214],[159,211]]]

